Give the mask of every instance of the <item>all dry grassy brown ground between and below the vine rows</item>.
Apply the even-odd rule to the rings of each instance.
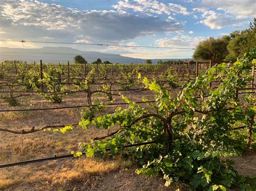
[[[122,91],[133,101],[142,101],[142,97],[153,100],[150,91]],[[173,91],[177,94],[177,90]],[[98,97],[98,96],[97,96]],[[104,97],[98,97],[104,100]],[[114,96],[116,103],[123,103],[120,96]],[[61,104],[53,104],[38,94],[18,98],[21,105],[10,107],[0,100],[0,109],[49,108],[69,105],[86,105],[83,93],[64,95]],[[147,107],[146,104],[142,104]],[[126,107],[125,105],[122,107]],[[116,107],[108,106],[99,113],[107,114]],[[83,108],[23,111],[0,113],[1,128],[30,129],[45,125],[73,124],[80,121]],[[69,154],[78,150],[79,142],[89,142],[90,138],[106,135],[106,130],[82,130],[79,126],[65,135],[53,133],[52,130],[35,132],[28,135],[15,135],[0,132],[0,162],[22,160]],[[235,169],[241,174],[256,175],[256,154],[250,153],[235,158]],[[114,160],[89,159],[85,157],[39,162],[23,166],[0,169],[1,190],[175,190],[180,185],[164,186],[160,176],[148,179],[137,175],[136,162],[115,158]]]

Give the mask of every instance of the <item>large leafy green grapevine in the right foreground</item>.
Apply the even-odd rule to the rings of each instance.
[[[145,77],[143,83],[155,94],[156,107],[143,108],[123,96],[129,107],[79,123],[83,129],[93,125],[114,132],[90,144],[80,143],[81,152],[74,154],[134,159],[141,165],[138,174],[163,174],[166,186],[179,182],[199,190],[253,189],[250,179],[232,168],[232,161],[220,157],[241,154],[247,147],[248,136],[234,128],[247,126],[255,133],[255,98],[236,95],[237,89],[252,80],[254,63],[255,59],[247,55],[233,65],[212,67],[185,84],[176,98]],[[218,88],[210,86],[213,81],[221,81]],[[154,144],[122,149],[124,145],[151,141]]]

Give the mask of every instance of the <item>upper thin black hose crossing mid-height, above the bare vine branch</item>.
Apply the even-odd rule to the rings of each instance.
[[[147,101],[147,102],[135,102],[137,104],[140,103],[153,103],[156,101]],[[129,103],[109,103],[105,105],[127,105]],[[97,105],[92,105],[97,106]],[[89,107],[89,105],[74,105],[74,106],[67,106],[67,107],[55,107],[55,108],[33,108],[33,109],[7,109],[7,110],[0,110],[0,112],[11,112],[11,111],[37,111],[37,110],[55,110],[55,109],[69,109],[69,108],[84,108]]]

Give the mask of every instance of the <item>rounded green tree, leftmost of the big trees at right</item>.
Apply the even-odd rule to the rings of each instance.
[[[201,41],[194,51],[193,58],[195,60],[224,60],[228,54],[227,45],[230,37],[224,36],[218,39],[210,37]]]

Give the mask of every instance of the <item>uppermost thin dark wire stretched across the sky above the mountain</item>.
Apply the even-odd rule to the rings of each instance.
[[[5,39],[0,39],[0,41],[11,41],[11,42],[21,42],[21,43],[46,43],[46,44],[115,46],[115,47],[132,47],[132,48],[196,49],[196,48],[162,47],[162,46],[131,46],[131,45],[112,45],[112,44],[93,44],[93,43],[68,43],[68,42],[53,42],[53,41],[26,41],[26,40],[5,40]]]

